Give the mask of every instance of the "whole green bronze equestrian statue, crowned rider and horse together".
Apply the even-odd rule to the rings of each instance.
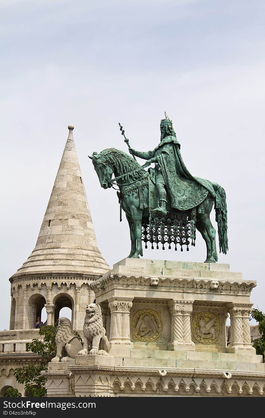
[[[119,124],[120,125],[120,124]],[[193,177],[186,168],[180,154],[180,143],[172,127],[172,121],[166,119],[160,123],[160,143],[154,150],[142,152],[130,148],[129,140],[121,133],[129,146],[132,159],[123,151],[108,148],[100,154],[90,156],[104,189],[118,185],[118,198],[126,213],[131,236],[129,257],[143,255],[144,242],[162,242],[164,244],[195,245],[196,229],[206,242],[206,263],[215,263],[217,258],[215,235],[211,224],[210,212],[215,206],[218,224],[219,249],[226,254],[227,209],[226,194],[219,184]],[[140,166],[135,156],[147,160]],[[148,171],[144,168],[154,163]],[[114,178],[112,178],[114,173]],[[157,245],[158,247],[158,245]]]

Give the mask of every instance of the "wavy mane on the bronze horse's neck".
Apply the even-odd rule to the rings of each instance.
[[[141,166],[130,155],[121,150],[116,150],[116,148],[107,148],[106,150],[101,151],[98,155],[100,156],[101,161],[111,164],[113,168],[115,167],[119,176],[124,174],[121,178],[123,181],[136,181],[146,172],[142,169],[128,174],[130,171],[141,168]]]

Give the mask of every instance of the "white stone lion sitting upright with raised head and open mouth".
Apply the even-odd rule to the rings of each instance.
[[[83,326],[84,345],[78,355],[99,354],[108,356],[110,343],[106,337],[106,331],[103,327],[101,308],[98,303],[90,303],[85,310],[85,322]]]

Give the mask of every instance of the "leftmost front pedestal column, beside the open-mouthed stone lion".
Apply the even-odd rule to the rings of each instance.
[[[130,309],[133,298],[113,296],[108,299],[111,311],[111,348],[132,348],[130,337]]]

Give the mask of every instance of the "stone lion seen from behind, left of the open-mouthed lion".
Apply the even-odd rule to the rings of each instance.
[[[56,357],[51,361],[74,362],[75,356],[82,349],[82,344],[74,334],[71,321],[65,317],[59,318],[56,330]]]

